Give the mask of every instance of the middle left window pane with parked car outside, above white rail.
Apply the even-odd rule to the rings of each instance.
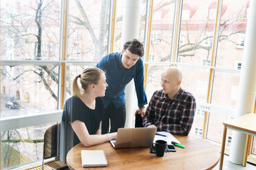
[[[57,109],[58,66],[1,66],[1,118]]]

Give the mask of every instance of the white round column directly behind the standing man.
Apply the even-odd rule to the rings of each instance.
[[[122,45],[128,40],[139,38],[140,29],[140,0],[122,0],[123,18],[122,18]],[[134,80],[131,80],[125,88],[126,99],[126,122],[125,127],[132,126],[134,116]],[[137,104],[136,104],[137,106]]]

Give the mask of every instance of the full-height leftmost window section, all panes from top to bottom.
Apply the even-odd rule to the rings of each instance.
[[[6,94],[1,94],[3,107],[0,119],[22,117],[22,121],[31,110],[47,112],[58,107],[56,89],[60,64],[48,60],[51,56],[60,56],[58,50],[53,51],[51,48],[60,43],[60,17],[60,0],[1,1],[0,49],[4,57],[0,61],[0,84],[1,88],[5,86]],[[59,60],[58,57],[56,59]],[[6,75],[3,75],[3,68]],[[47,80],[47,76],[52,78]],[[47,90],[43,92],[42,88]],[[12,105],[8,106],[8,103]],[[18,122],[8,126],[9,130],[1,132],[0,169],[21,169],[21,165],[42,160],[43,133],[47,124],[36,124],[41,120],[28,121],[34,125],[27,127],[24,127],[27,123]],[[25,125],[13,130],[14,126],[20,124]]]

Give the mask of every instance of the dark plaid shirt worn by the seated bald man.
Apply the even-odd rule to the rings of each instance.
[[[143,125],[156,125],[158,131],[187,135],[191,130],[195,107],[193,95],[182,88],[173,99],[169,99],[162,90],[157,90],[151,97]]]

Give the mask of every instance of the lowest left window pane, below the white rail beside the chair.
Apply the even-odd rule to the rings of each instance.
[[[44,134],[51,125],[54,123],[1,132],[1,169],[42,161]]]

